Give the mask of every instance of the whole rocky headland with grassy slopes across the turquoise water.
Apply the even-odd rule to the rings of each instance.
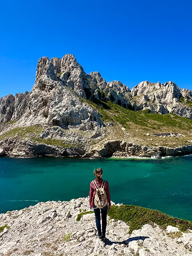
[[[31,92],[0,99],[0,155],[178,156],[192,152],[192,91],[144,81],[130,90],[42,57]]]

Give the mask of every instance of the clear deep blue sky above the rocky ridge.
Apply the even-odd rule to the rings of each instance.
[[[0,97],[30,91],[38,59],[66,53],[107,82],[192,89],[191,10],[190,0],[1,1]]]

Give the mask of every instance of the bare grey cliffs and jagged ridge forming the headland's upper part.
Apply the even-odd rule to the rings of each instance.
[[[107,83],[99,72],[86,74],[75,57],[66,54],[62,59],[40,58],[30,93],[9,94],[0,99],[0,125],[20,120],[21,125],[74,126],[82,130],[103,126],[98,114],[79,96],[93,101],[110,100],[129,109],[149,108],[151,112],[192,118],[192,109],[185,104],[192,100],[192,91],[180,90],[173,82],[148,81],[130,90],[120,81]]]

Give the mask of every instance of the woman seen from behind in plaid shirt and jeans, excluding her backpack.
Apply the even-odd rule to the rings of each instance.
[[[96,227],[98,231],[98,234],[96,236],[100,240],[103,240],[105,239],[105,235],[106,235],[107,210],[111,209],[109,184],[107,181],[104,181],[102,179],[102,175],[103,175],[102,168],[96,169],[96,171],[94,171],[94,175],[95,175],[95,180],[93,180],[90,183],[89,202],[90,202],[90,209],[93,209],[95,213]],[[96,186],[98,186],[98,188],[101,188],[102,184],[104,183],[104,190],[106,192],[106,197],[107,197],[106,206],[104,208],[98,208],[95,206],[94,199],[96,195],[96,186],[94,185],[94,183],[96,183]],[[101,222],[100,222],[100,211],[101,211],[101,217],[102,217],[102,231],[101,231]]]

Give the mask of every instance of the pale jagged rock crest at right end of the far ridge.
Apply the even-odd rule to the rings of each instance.
[[[144,81],[132,88],[131,94],[136,110],[150,109],[151,113],[173,113],[192,118],[192,108],[184,104],[187,100],[192,100],[192,91],[181,90],[173,82],[154,84]],[[184,102],[180,101],[181,97]]]

